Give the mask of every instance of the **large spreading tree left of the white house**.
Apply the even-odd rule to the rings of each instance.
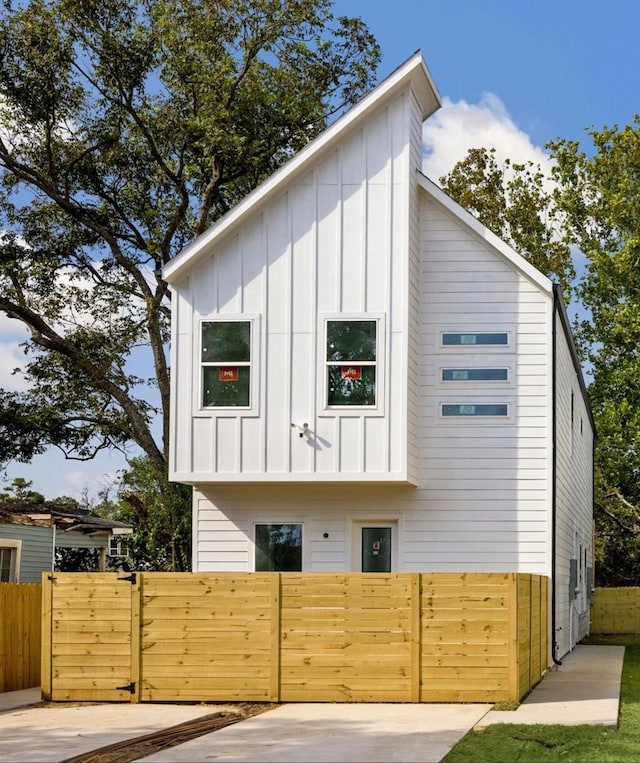
[[[162,267],[357,100],[379,55],[330,0],[3,5],[0,310],[30,339],[0,461],[133,446],[179,525]]]

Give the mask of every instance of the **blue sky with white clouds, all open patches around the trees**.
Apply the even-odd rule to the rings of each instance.
[[[425,124],[434,180],[468,148],[544,162],[545,144],[584,141],[586,130],[624,125],[640,112],[640,3],[637,0],[336,0],[360,16],[382,48],[382,79],[420,50],[443,98]],[[10,325],[11,324],[11,325]],[[15,322],[0,317],[0,384],[20,363]],[[118,454],[87,464],[53,451],[30,465],[9,464],[47,498],[96,495],[125,466]]]

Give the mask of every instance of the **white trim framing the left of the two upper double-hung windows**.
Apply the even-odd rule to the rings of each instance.
[[[249,362],[238,363],[238,366],[249,366],[249,405],[205,406],[202,404],[203,373],[206,365],[215,363],[202,362],[202,325],[204,323],[249,323],[251,358]],[[256,313],[216,313],[196,317],[194,331],[197,341],[194,352],[194,405],[193,414],[196,416],[219,416],[228,418],[230,415],[249,417],[258,416],[260,412],[260,379],[262,363],[260,357],[260,316]]]

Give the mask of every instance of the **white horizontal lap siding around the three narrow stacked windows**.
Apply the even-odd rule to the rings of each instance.
[[[550,295],[426,197],[422,221],[425,511],[407,520],[407,558],[549,574]],[[444,348],[444,330],[509,332],[511,345]],[[510,381],[446,383],[443,367],[506,367]],[[510,416],[443,418],[442,403],[507,403]]]

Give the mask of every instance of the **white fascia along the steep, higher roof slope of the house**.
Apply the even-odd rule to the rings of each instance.
[[[420,51],[416,51],[411,58],[386,77],[340,119],[309,142],[280,169],[276,170],[273,175],[214,223],[211,228],[187,244],[176,257],[164,266],[164,280],[168,283],[174,283],[184,275],[185,269],[195,264],[199,256],[209,248],[212,242],[228,233],[250,209],[256,207],[270,194],[275,193],[283,183],[290,180],[295,174],[302,172],[313,157],[334,142],[338,136],[350,130],[372,107],[378,105],[389,94],[406,87],[409,83],[420,103],[423,120],[440,108],[442,105],[440,94],[422,54]]]

